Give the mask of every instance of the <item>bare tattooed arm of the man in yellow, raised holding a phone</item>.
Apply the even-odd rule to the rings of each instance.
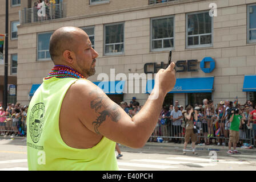
[[[106,94],[89,81],[78,80],[70,89],[76,93],[78,109],[75,115],[90,131],[128,147],[145,145],[157,124],[163,100],[175,85],[174,63],[157,73],[148,100],[138,114],[129,115]]]

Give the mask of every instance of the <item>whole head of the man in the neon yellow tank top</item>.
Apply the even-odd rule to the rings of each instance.
[[[89,36],[78,27],[61,27],[50,38],[50,55],[55,65],[67,65],[86,78],[95,74],[98,52]]]

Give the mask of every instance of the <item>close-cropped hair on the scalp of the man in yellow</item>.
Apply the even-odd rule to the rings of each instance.
[[[75,51],[74,47],[78,43],[79,35],[87,34],[81,29],[77,27],[61,27],[58,28],[50,38],[50,55],[51,60],[59,60],[61,59],[62,53],[65,50]]]

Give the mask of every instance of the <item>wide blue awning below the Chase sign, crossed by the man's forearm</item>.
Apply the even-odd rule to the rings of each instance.
[[[211,93],[214,77],[177,78],[176,84],[169,93]],[[148,80],[146,93],[151,93],[155,80]]]

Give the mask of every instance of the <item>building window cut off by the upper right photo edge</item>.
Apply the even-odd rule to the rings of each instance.
[[[247,8],[247,42],[256,43],[256,5]]]

